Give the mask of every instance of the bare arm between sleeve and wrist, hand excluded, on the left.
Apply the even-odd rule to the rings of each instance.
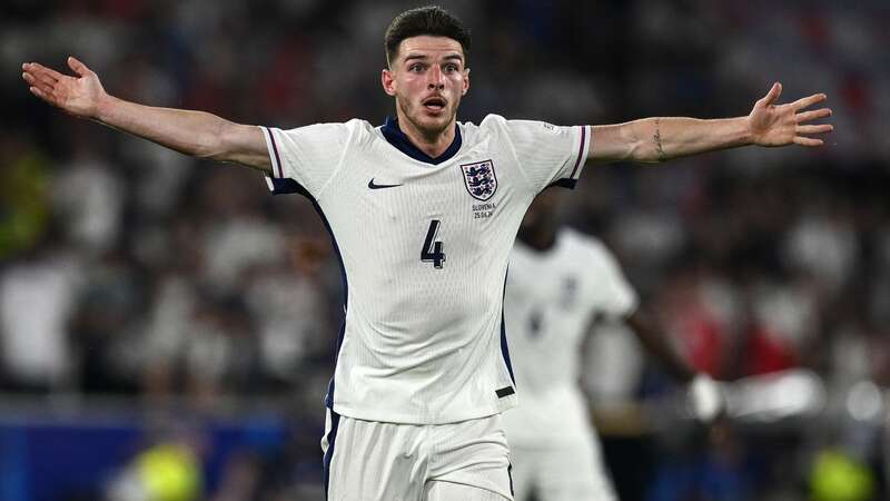
[[[264,169],[263,132],[205,111],[158,108],[103,97],[95,119],[185,155]]]

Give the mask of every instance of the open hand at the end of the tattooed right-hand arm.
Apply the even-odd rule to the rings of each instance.
[[[814,94],[787,105],[777,105],[782,85],[773,84],[770,91],[754,104],[748,116],[751,140],[760,146],[822,146],[822,139],[810,137],[813,134],[825,134],[834,130],[830,124],[809,124],[812,120],[831,115],[830,108],[803,111],[818,102],[828,99],[824,94]]]

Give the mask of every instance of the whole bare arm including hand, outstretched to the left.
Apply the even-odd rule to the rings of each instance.
[[[22,65],[22,78],[38,98],[76,117],[99,121],[179,153],[271,171],[263,131],[204,111],[157,108],[110,96],[99,77],[77,59],[62,75],[36,62]]]

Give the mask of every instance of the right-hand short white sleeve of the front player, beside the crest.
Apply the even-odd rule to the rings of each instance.
[[[506,120],[520,165],[536,191],[556,185],[574,188],[591,147],[589,126]]]

